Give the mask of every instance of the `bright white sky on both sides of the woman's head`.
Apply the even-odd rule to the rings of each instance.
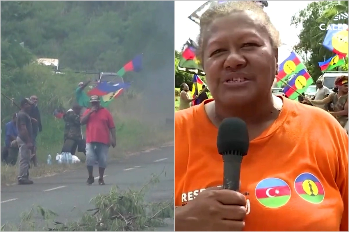
[[[174,48],[180,50],[188,38],[196,41],[199,26],[188,19],[188,16],[206,1],[175,1],[174,2]],[[313,1],[268,1],[265,8],[271,21],[279,30],[281,42],[285,45],[279,48],[279,61],[283,61],[291,49],[299,41],[301,27],[290,26],[292,15],[304,9]]]

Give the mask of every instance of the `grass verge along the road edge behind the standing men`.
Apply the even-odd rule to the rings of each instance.
[[[149,112],[140,103],[141,94],[121,96],[111,103],[110,111],[113,115],[117,129],[117,146],[110,147],[109,159],[123,157],[129,153],[161,146],[166,142],[173,141],[173,128],[165,126],[159,120],[150,120]],[[58,165],[55,157],[60,153],[63,145],[64,121],[56,119],[53,115],[43,115],[43,131],[37,138],[38,167],[30,168],[30,177],[38,178],[53,175],[67,170],[73,170],[82,166],[85,161],[83,153],[76,153],[81,160],[80,164]],[[84,133],[84,127],[83,127]],[[51,154],[53,165],[47,165],[47,157]],[[17,162],[18,163],[18,162]],[[17,182],[18,166],[1,164],[1,185]]]

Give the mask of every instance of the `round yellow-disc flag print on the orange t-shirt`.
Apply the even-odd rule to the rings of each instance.
[[[324,187],[311,173],[302,173],[295,180],[295,190],[301,198],[311,203],[321,203],[325,197]]]

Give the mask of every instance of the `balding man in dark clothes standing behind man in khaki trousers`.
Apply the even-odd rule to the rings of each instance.
[[[36,157],[36,138],[38,136],[38,132],[42,131],[42,125],[41,125],[41,117],[40,117],[40,111],[38,108],[38,97],[35,95],[30,96],[30,101],[32,102],[32,106],[29,112],[29,116],[31,117],[31,125],[33,127],[33,145],[34,150],[32,154],[32,158],[30,161],[34,164],[34,166],[37,166],[37,157]]]

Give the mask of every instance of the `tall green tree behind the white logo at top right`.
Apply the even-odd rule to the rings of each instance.
[[[299,43],[294,49],[297,53],[307,55],[306,66],[314,80],[321,75],[318,62],[334,55],[321,46],[327,31],[320,30],[319,25],[321,23],[326,25],[334,23],[333,17],[343,12],[348,12],[348,1],[317,1],[310,3],[305,9],[292,16],[291,25],[302,25]],[[346,21],[342,19],[335,23],[347,23]],[[346,65],[340,68],[348,70]]]

